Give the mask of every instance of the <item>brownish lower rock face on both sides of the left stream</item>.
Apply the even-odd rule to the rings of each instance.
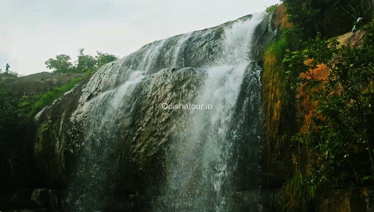
[[[182,114],[182,110],[162,109],[162,103],[193,102],[196,90],[205,77],[205,71],[197,68],[182,68],[173,73],[170,69],[160,70],[157,74],[147,76],[147,79],[133,88],[132,97],[121,102],[121,107],[122,104],[126,107],[113,111],[113,119],[107,122],[116,122],[117,135],[113,139],[109,156],[113,158],[105,160],[118,162],[121,169],[116,170],[117,174],[123,177],[122,180],[129,180],[122,182],[123,187],[137,190],[134,186],[142,185],[132,182],[150,177],[144,174],[154,169],[151,162],[157,160],[157,153],[166,144],[168,135],[173,130],[172,120],[177,121]],[[96,114],[97,120],[83,123],[95,116],[92,113],[96,110],[97,101],[97,98],[84,100],[91,95],[85,89],[86,85],[86,82],[79,84],[36,117],[38,136],[34,151],[39,166],[47,170],[45,178],[51,183],[67,182],[67,171],[73,166],[69,162],[75,163],[74,158],[79,159],[80,156],[77,155],[85,148],[83,145],[86,143],[79,144],[83,142],[83,134],[92,125],[98,124],[105,115]],[[118,90],[114,89],[116,91]],[[66,156],[68,159],[65,159]],[[96,162],[102,161],[98,159]]]

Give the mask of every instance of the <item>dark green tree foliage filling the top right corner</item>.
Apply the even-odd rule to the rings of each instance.
[[[357,0],[282,0],[289,22],[307,37],[317,32],[332,37],[352,29],[359,17],[371,21],[372,7]]]

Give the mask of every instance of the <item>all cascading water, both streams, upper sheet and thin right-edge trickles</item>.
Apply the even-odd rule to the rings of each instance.
[[[165,74],[169,74],[169,79],[175,77],[163,68],[194,67],[200,68],[200,76],[205,78],[197,79],[202,82],[193,91],[194,102],[182,103],[209,104],[212,108],[183,111],[184,115],[176,116],[173,123],[184,124],[174,124],[171,128],[175,130],[165,133],[166,165],[160,166],[165,169],[162,170],[165,177],[157,189],[161,196],[153,200],[151,208],[152,211],[230,211],[227,200],[230,192],[248,189],[249,184],[256,184],[255,175],[260,175],[257,151],[261,151],[263,132],[261,68],[252,54],[255,31],[263,16],[245,16],[218,27],[159,40],[96,71],[83,87],[71,117],[71,122],[82,123],[85,133],[75,147],[77,165],[70,177],[68,209],[116,210],[108,206],[114,199],[118,183],[114,179],[120,178],[116,175],[121,169],[118,158],[122,156],[113,153],[117,151],[114,147],[137,133],[150,133],[144,132],[150,121],[136,116],[136,111],[141,110],[139,105],[149,103],[142,103],[139,96],[147,96],[152,86],[167,87],[172,83],[157,81],[157,76]],[[180,96],[185,93],[175,92],[181,92]],[[168,93],[160,96],[164,95]],[[150,106],[153,110],[147,110],[149,116],[162,110],[161,105]],[[123,125],[136,124],[141,127],[121,135]],[[151,144],[144,147],[138,139],[143,141],[137,136],[127,142],[135,145],[137,154],[143,154]],[[121,154],[125,155],[123,151]],[[245,174],[251,175],[251,182],[243,183],[248,180],[238,174],[243,169],[249,170]]]

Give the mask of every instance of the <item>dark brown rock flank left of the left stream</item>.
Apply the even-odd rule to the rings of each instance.
[[[45,108],[35,118],[34,155],[42,182],[61,187],[66,182],[66,143],[79,139],[77,126],[70,122],[76,109],[84,80],[62,98]]]

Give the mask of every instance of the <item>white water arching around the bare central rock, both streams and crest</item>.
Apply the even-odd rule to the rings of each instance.
[[[110,164],[108,154],[117,141],[116,136],[121,136],[117,135],[119,118],[126,115],[134,101],[136,87],[155,70],[200,64],[196,68],[206,71],[207,77],[196,89],[196,103],[210,104],[212,110],[191,112],[183,120],[190,127],[180,127],[177,135],[173,135],[176,139],[166,153],[169,169],[162,191],[166,205],[156,211],[227,211],[225,196],[236,169],[233,156],[237,152],[233,146],[237,145],[236,134],[240,134],[240,126],[233,127],[237,102],[244,105],[258,102],[255,98],[260,92],[257,83],[260,68],[254,65],[251,50],[255,29],[262,18],[263,14],[256,14],[225,24],[223,33],[217,27],[156,41],[93,74],[71,118],[72,122],[86,124],[84,142],[79,147],[80,164],[70,186],[74,210],[99,210],[104,207],[105,198],[110,197],[114,186],[110,174],[116,167]],[[217,38],[216,32],[221,37]],[[209,46],[212,40],[217,46]],[[210,52],[213,53],[209,55]],[[205,63],[193,60],[201,58],[213,59]],[[248,84],[244,82],[246,77],[254,91],[248,92],[250,96],[243,100],[239,96],[242,86]],[[237,123],[241,123],[241,118]]]

